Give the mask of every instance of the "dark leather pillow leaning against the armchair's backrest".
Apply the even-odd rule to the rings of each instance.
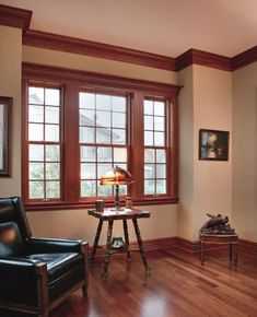
[[[0,223],[0,257],[22,254],[23,239],[15,222]]]

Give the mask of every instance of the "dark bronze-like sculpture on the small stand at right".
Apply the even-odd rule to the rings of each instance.
[[[235,230],[229,224],[229,218],[222,214],[212,215],[200,228],[200,234],[217,234],[217,235],[235,235]]]

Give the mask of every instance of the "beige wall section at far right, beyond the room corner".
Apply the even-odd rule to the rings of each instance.
[[[233,72],[233,220],[257,242],[257,62]]]

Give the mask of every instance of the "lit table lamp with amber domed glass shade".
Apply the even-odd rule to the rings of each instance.
[[[105,173],[100,180],[101,185],[115,186],[116,210],[122,210],[122,208],[119,207],[119,185],[129,185],[131,183],[133,183],[131,174],[118,166],[115,166],[113,169]]]

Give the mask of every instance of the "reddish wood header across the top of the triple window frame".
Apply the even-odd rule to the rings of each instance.
[[[112,87],[127,92],[130,92],[131,90],[140,90],[149,94],[154,91],[163,96],[177,96],[182,89],[179,85],[28,62],[22,63],[22,73],[23,78],[33,78],[33,80],[42,80],[42,78],[49,81],[72,80],[86,86]]]

